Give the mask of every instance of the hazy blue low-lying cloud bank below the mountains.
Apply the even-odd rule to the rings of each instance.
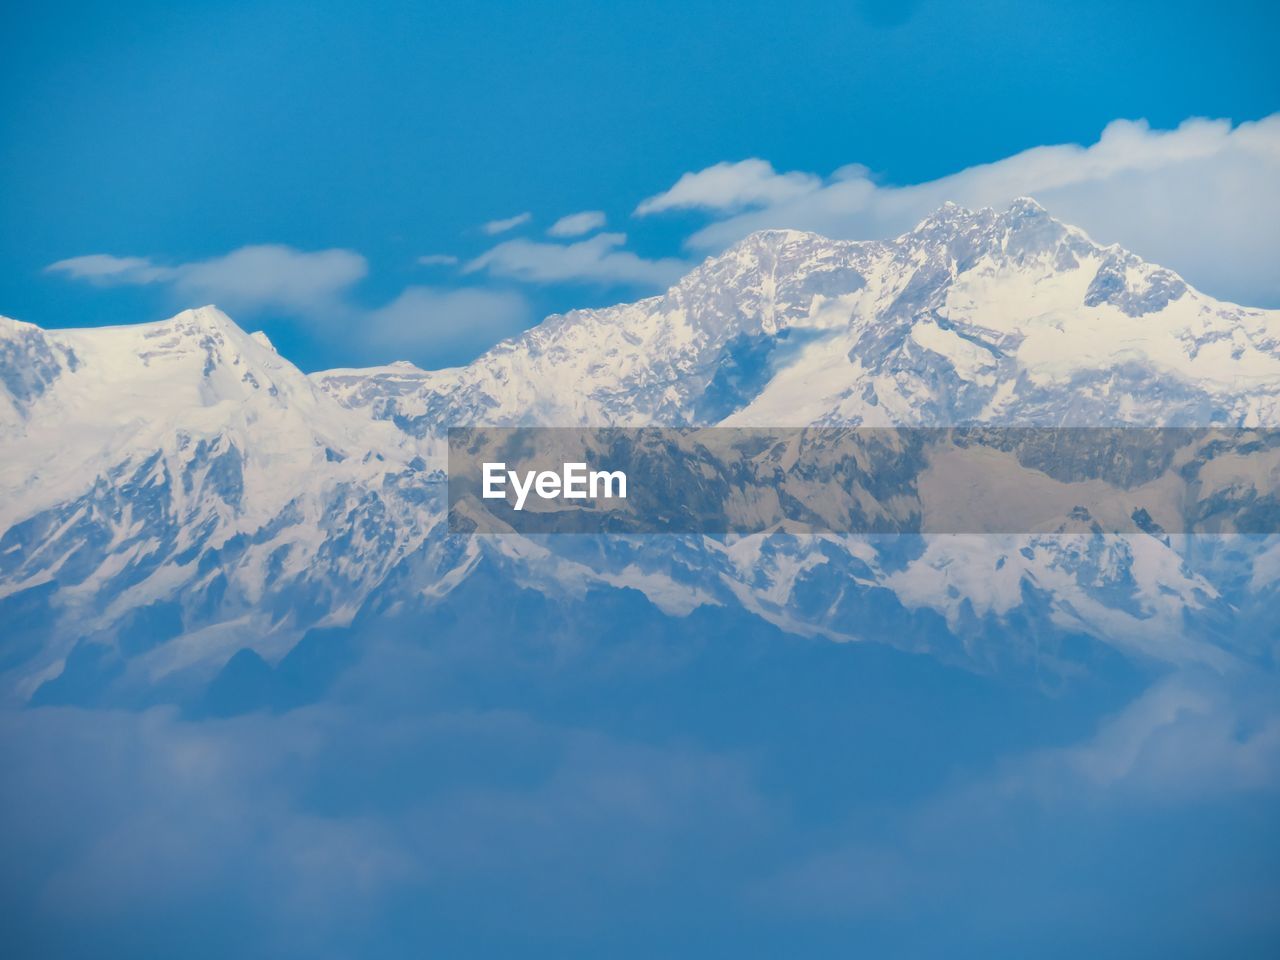
[[[1249,956],[1280,933],[1271,677],[1048,696],[874,645],[545,626],[366,636],[284,713],[0,710],[10,952]]]

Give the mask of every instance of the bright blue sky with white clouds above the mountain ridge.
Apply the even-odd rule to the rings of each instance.
[[[1251,125],[1280,109],[1268,4],[321,0],[5,17],[0,312],[47,326],[212,300],[303,369],[435,366],[547,312],[662,289],[755,225],[881,236],[938,197],[1010,192],[1050,195],[1052,212],[1211,293],[1280,305],[1266,262],[1280,131]],[[1197,116],[1225,125],[1156,133]],[[1126,119],[1148,125],[1108,128]],[[1105,129],[1101,152],[1024,152]],[[755,165],[716,168],[741,161]],[[997,161],[993,184],[937,183]],[[708,168],[724,175],[636,215]],[[877,206],[931,183],[892,215]],[[873,200],[840,207],[842,191]],[[517,221],[484,228],[503,220]],[[1149,236],[1126,234],[1134,223]]]

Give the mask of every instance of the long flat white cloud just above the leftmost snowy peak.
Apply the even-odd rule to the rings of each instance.
[[[349,250],[306,252],[264,244],[173,266],[146,257],[91,253],[60,260],[46,269],[99,284],[163,283],[187,303],[215,302],[229,310],[310,311],[332,306],[364,279],[369,265]]]

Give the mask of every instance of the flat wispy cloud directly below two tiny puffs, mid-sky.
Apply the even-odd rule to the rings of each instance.
[[[530,283],[585,280],[663,285],[689,269],[681,260],[645,260],[620,250],[626,241],[622,233],[600,233],[577,243],[512,239],[472,260],[466,273],[486,270],[494,276]]]

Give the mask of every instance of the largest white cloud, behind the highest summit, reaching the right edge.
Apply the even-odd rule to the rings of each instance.
[[[1211,294],[1280,305],[1280,114],[1235,127],[1190,119],[1174,131],[1116,120],[1091,146],[1033,147],[902,187],[878,184],[860,166],[819,180],[774,174],[763,160],[717,164],[685,174],[636,212],[731,214],[687,241],[712,251],[771,227],[892,237],[947,200],[1000,207],[1019,196],[1036,197],[1094,239],[1120,243]],[[759,209],[744,210],[750,206]]]

